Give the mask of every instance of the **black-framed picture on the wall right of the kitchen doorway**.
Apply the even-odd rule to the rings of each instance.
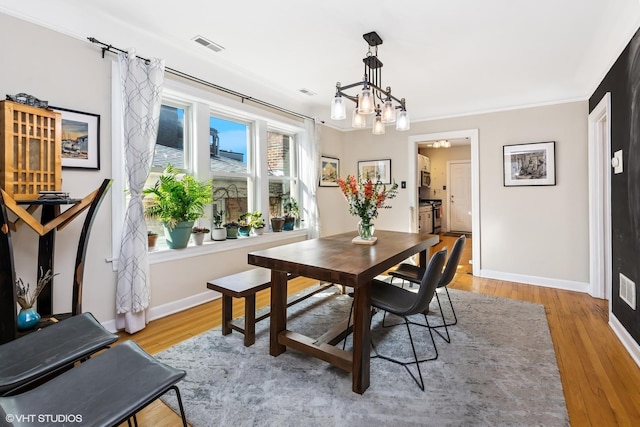
[[[504,186],[556,185],[556,143],[505,145]]]

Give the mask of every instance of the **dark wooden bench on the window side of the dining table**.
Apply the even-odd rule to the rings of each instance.
[[[289,275],[288,278],[294,277]],[[325,283],[305,289],[291,297],[287,302],[287,307],[331,286],[333,283]],[[254,268],[207,282],[207,288],[222,294],[222,335],[229,335],[232,330],[236,330],[244,334],[246,347],[256,341],[256,322],[268,318],[271,314],[268,308],[256,313],[256,293],[269,287],[271,287],[271,270],[266,268]],[[232,319],[233,298],[244,298],[244,322]]]

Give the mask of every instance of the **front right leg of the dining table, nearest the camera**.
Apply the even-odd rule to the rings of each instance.
[[[362,394],[369,388],[371,343],[371,282],[354,289],[353,382],[351,389]]]

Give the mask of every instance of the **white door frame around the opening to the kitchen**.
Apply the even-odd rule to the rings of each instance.
[[[421,142],[435,141],[439,139],[469,138],[471,145],[471,227],[473,239],[471,239],[471,259],[473,260],[473,275],[480,277],[480,267],[482,266],[480,242],[480,150],[478,129],[458,130],[451,132],[427,133],[412,135],[409,139],[409,179],[407,190],[413,197],[409,197],[409,209],[413,212],[413,223],[418,218],[418,148]]]

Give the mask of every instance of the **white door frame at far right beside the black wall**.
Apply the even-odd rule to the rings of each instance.
[[[591,296],[609,302],[612,292],[610,167],[611,92],[607,92],[589,114],[589,282]]]

